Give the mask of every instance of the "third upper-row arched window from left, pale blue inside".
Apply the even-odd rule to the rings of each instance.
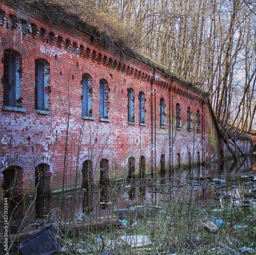
[[[93,115],[93,84],[89,74],[82,75],[82,116],[92,117]]]

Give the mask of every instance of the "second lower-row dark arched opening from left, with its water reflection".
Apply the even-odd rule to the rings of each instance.
[[[50,167],[40,164],[35,168],[35,213],[36,218],[44,218],[50,212]]]

